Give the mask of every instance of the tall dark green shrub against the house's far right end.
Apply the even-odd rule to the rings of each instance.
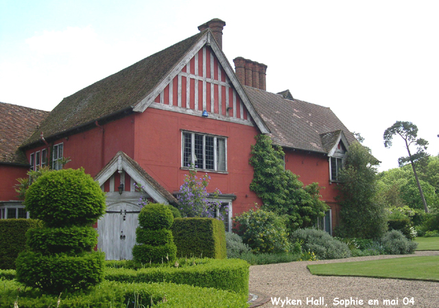
[[[387,230],[385,205],[377,198],[377,158],[360,143],[349,146],[340,170],[340,237],[379,238]]]

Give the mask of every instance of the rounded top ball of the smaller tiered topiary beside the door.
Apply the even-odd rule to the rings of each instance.
[[[174,223],[174,215],[164,204],[152,203],[139,214],[139,225],[149,230],[169,229]]]

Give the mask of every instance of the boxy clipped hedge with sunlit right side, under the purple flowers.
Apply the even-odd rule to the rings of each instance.
[[[215,218],[176,218],[171,227],[177,257],[226,259],[226,230]]]

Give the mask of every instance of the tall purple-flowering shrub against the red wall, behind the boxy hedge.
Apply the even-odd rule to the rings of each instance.
[[[208,193],[207,186],[211,177],[208,174],[197,176],[197,171],[193,165],[188,167],[189,174],[185,175],[185,182],[181,185],[178,193],[178,202],[180,203],[180,213],[182,213],[182,216],[213,217],[217,218],[217,220],[224,220],[222,212],[227,213],[228,206],[222,206],[221,202],[212,199],[217,198],[221,191],[215,189],[213,193]]]

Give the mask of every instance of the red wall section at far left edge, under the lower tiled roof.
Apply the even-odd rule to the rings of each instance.
[[[19,200],[14,186],[17,178],[25,178],[29,168],[0,164],[0,201]]]

